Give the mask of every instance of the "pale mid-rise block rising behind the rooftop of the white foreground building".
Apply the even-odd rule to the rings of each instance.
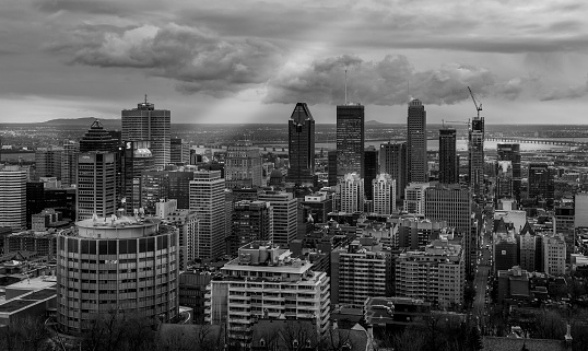
[[[287,247],[297,236],[298,200],[291,192],[264,191],[259,201],[269,202],[273,211],[273,244]]]

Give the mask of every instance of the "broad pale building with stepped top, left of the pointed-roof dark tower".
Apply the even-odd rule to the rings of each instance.
[[[250,188],[262,185],[261,153],[250,142],[228,147],[224,168],[227,188]]]

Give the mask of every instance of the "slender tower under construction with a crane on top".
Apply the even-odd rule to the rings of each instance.
[[[473,117],[468,136],[470,189],[474,197],[484,191],[484,117]]]

